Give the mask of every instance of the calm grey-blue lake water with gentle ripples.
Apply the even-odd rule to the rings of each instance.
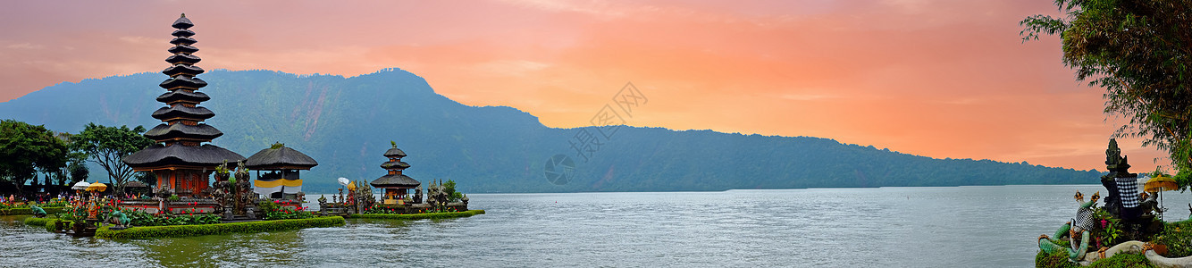
[[[488,214],[143,241],[0,217],[0,266],[1032,267],[1079,186],[468,194]],[[1167,192],[1169,220],[1192,194]],[[315,195],[317,198],[317,195]]]

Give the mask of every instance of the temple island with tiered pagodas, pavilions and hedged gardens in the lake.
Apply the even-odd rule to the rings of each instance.
[[[156,98],[164,106],[151,113],[161,124],[143,133],[153,145],[122,160],[132,170],[155,177],[155,183],[139,194],[120,197],[103,194],[107,193],[104,183],[79,182],[73,188],[79,195],[68,201],[64,213],[48,219],[37,207],[41,213],[26,224],[75,236],[147,238],[339,226],[346,224],[344,217],[422,219],[484,213],[467,208],[468,199],[455,192],[454,181],[432,181],[423,195],[422,182],[403,174],[410,164],[402,161],[406,154],[396,142],[384,154],[389,160],[381,164],[385,175],[371,183],[341,177],[347,195],[343,188],[331,201],[321,195],[318,207],[311,208],[299,174],[318,166],[313,157],[283,143],[248,158],[211,144],[223,132],[205,123],[216,114],[200,106],[212,98],[200,92],[207,82],[197,77],[204,70],[194,55],[199,51],[191,30],[194,24],[182,14],[172,26],[169,66],[162,70],[168,79],[159,85],[166,92]],[[374,188],[381,191],[379,197]]]

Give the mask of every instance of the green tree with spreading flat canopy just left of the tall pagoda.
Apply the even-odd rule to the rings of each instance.
[[[89,123],[82,132],[72,137],[70,147],[86,152],[92,162],[104,167],[111,177],[114,193],[124,193],[124,182],[132,179],[136,172],[120,160],[155,143],[141,136],[143,132],[145,132],[144,126],[129,129],[123,125],[116,127]]]

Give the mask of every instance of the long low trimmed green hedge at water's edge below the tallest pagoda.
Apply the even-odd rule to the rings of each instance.
[[[224,235],[234,232],[285,231],[304,228],[330,228],[344,224],[343,217],[319,217],[310,219],[281,219],[247,223],[175,225],[175,226],[138,226],[113,231],[107,226],[95,230],[95,237],[116,239],[137,239],[151,237],[181,237]]]

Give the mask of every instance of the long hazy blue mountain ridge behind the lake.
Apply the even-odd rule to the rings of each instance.
[[[1094,183],[1100,173],[988,160],[936,160],[840,144],[777,137],[621,127],[589,162],[569,139],[581,129],[552,129],[511,107],[473,107],[436,94],[414,74],[293,75],[216,70],[203,102],[224,132],[215,144],[248,157],[274,142],[319,166],[303,174],[306,192],[329,193],[336,177],[372,181],[385,174],[381,154],[396,141],[423,185],[451,179],[467,193],[724,191],[733,188]],[[60,83],[0,102],[0,118],[79,132],[87,123],[159,124],[157,73]],[[590,129],[589,129],[590,130]],[[576,162],[573,177],[544,176],[557,154]],[[106,177],[93,170],[92,177]],[[561,182],[561,181],[554,181]]]

